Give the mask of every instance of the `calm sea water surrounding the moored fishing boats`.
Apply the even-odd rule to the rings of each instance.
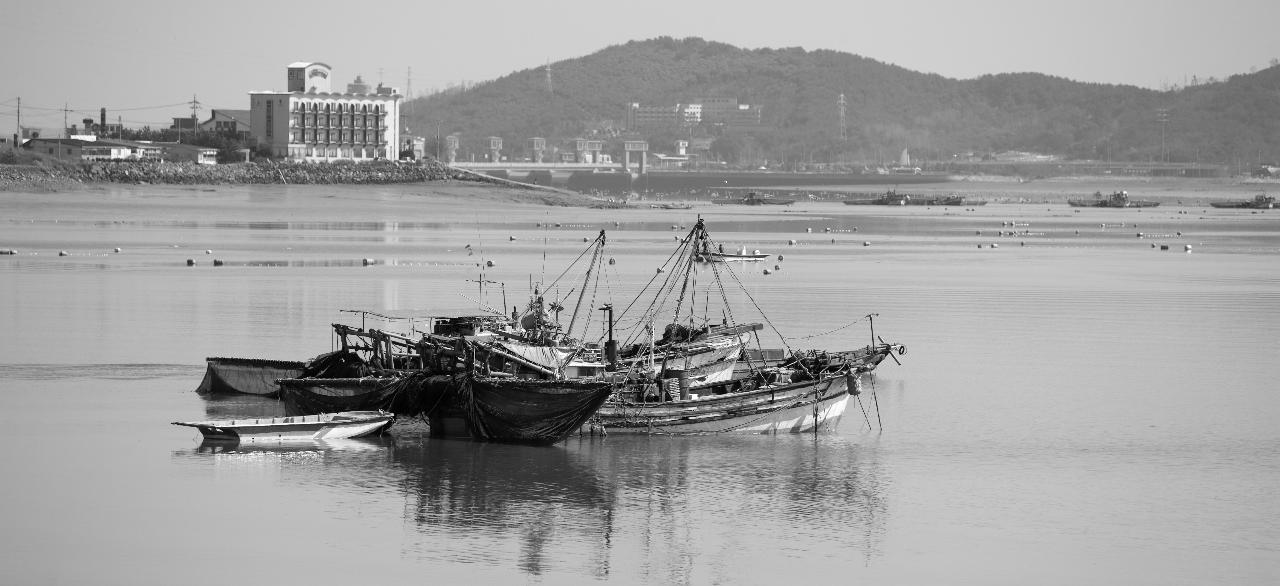
[[[1280,211],[426,189],[0,194],[0,582],[1280,581]],[[867,313],[908,345],[838,431],[228,450],[168,425],[280,412],[196,395],[206,356],[311,357],[340,310],[509,307],[600,229],[623,303],[699,212],[783,255],[733,301],[792,345],[865,344]]]

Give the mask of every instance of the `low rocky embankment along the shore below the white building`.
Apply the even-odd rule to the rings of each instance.
[[[84,162],[82,165],[0,165],[0,191],[59,191],[84,183],[132,184],[378,184],[488,178],[425,162]]]

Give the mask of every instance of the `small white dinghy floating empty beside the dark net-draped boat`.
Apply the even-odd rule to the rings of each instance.
[[[173,425],[195,427],[205,435],[205,439],[310,441],[362,438],[390,427],[393,421],[396,421],[396,416],[385,411],[343,411],[340,413],[300,415],[292,417],[174,421]]]

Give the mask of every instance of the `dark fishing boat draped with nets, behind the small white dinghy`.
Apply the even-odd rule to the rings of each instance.
[[[603,246],[602,230],[593,271]],[[288,412],[379,408],[426,418],[433,436],[552,444],[612,393],[604,365],[559,331],[536,294],[525,316],[439,320],[419,339],[340,324],[334,331],[340,349],[279,381]]]

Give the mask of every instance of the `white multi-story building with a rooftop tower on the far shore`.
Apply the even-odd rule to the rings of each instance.
[[[334,93],[324,63],[289,65],[288,90],[250,92],[250,132],[273,156],[293,161],[397,159],[402,96]]]

